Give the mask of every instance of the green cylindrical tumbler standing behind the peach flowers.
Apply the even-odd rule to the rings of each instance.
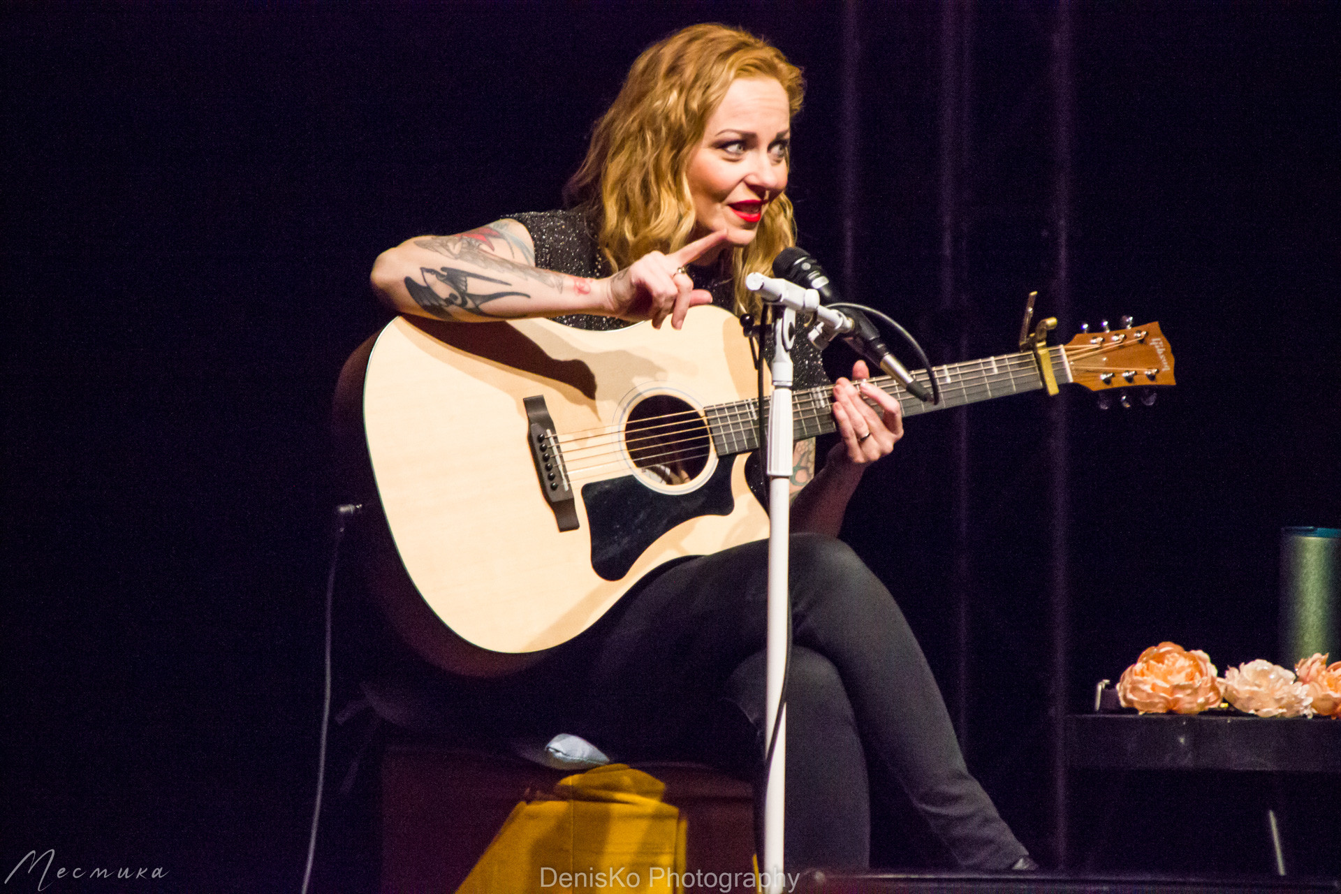
[[[1281,663],[1341,661],[1341,529],[1281,528]]]

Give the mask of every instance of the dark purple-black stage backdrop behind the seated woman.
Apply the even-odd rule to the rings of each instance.
[[[952,327],[972,357],[1014,350],[1025,294],[1049,281],[1054,8],[974,7],[963,182],[976,210],[961,233],[968,306],[948,316],[940,15],[858,11],[858,260],[842,285],[951,359],[939,332]],[[1080,710],[1096,680],[1161,639],[1222,670],[1275,658],[1278,531],[1341,525],[1341,42],[1334,4],[1096,3],[1073,16],[1074,311],[1059,332],[1157,319],[1179,378],[1153,407],[1058,398]],[[58,865],[169,870],[146,890],[296,887],[327,413],[341,363],[386,319],[366,285],[373,259],[555,206],[637,51],[697,20],[762,32],[805,67],[790,192],[802,244],[841,269],[837,4],[5,4],[0,870],[54,847]],[[947,609],[957,413],[967,693]],[[968,700],[970,763],[1045,856],[1047,424],[1041,394],[913,420],[845,529],[952,705]],[[1270,866],[1255,781],[1128,780],[1116,797],[1071,781],[1073,836],[1106,842],[1092,867]],[[1336,784],[1285,787],[1297,865],[1341,874]],[[338,887],[375,871],[358,842],[323,847],[350,873]]]

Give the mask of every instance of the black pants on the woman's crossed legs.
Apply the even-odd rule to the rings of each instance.
[[[760,541],[683,562],[527,674],[544,680],[554,730],[621,760],[760,765],[766,556]],[[872,799],[897,787],[960,867],[1003,870],[1025,855],[968,773],[889,591],[830,537],[793,536],[790,567],[789,869],[868,866]]]

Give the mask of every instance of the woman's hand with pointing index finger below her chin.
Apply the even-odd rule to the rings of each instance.
[[[605,312],[625,320],[652,320],[656,328],[669,316],[670,326],[680,328],[691,307],[712,303],[712,295],[695,288],[681,268],[724,241],[727,231],[717,231],[669,255],[648,252],[603,280]]]

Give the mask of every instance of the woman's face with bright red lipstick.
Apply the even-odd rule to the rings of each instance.
[[[772,78],[732,82],[685,170],[697,236],[724,229],[731,245],[750,244],[763,209],[787,186],[790,137],[791,110],[780,83]],[[700,261],[715,260],[720,248]]]

